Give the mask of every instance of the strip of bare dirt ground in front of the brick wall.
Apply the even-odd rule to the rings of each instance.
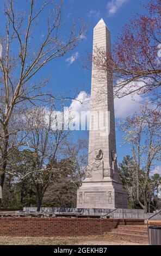
[[[0,236],[0,245],[145,245],[114,236],[11,237]]]

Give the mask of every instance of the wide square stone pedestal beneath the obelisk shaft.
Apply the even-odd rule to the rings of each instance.
[[[77,208],[127,209],[127,193],[120,182],[85,179],[77,190]]]

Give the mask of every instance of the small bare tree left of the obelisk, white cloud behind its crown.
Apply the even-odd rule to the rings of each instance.
[[[21,168],[15,168],[15,172],[6,171],[10,176],[17,176],[20,181],[30,179],[36,190],[38,211],[45,191],[53,180],[60,178],[61,169],[65,164],[65,162],[58,164],[58,157],[70,131],[65,131],[63,127],[61,130],[54,130],[54,123],[60,124],[63,121],[61,118],[63,114],[57,115],[52,106],[50,109],[45,107],[31,109],[25,116],[26,139],[23,143],[23,148],[30,153],[30,163],[23,173]],[[18,163],[16,164],[18,167]]]

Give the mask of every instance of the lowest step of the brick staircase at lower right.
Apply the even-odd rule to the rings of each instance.
[[[124,231],[125,232],[125,231]],[[138,234],[129,234],[129,233],[118,233],[115,231],[108,232],[107,235],[115,236],[118,238],[124,238],[128,241],[135,241],[135,242],[145,242],[148,243],[148,236],[147,235],[138,235]]]

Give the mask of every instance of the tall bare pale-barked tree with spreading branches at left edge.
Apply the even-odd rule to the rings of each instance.
[[[42,5],[35,0],[26,1],[26,14],[19,9],[15,0],[7,0],[4,5],[5,30],[0,36],[0,124],[1,124],[1,186],[9,157],[9,138],[16,135],[11,119],[17,114],[19,105],[44,101],[42,88],[46,81],[38,81],[36,74],[51,60],[64,56],[71,51],[80,40],[82,25],[76,33],[76,23],[73,21],[68,38],[63,38],[61,11],[63,2],[54,4],[51,0]],[[42,14],[49,11],[47,19],[43,20],[44,37],[41,40],[34,37],[35,30],[39,33]]]

